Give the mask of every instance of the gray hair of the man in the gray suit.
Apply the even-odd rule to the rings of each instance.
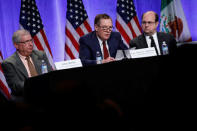
[[[17,30],[16,32],[14,32],[14,34],[12,36],[12,42],[13,43],[20,43],[21,36],[24,36],[24,35],[31,35],[31,34],[29,33],[28,30],[24,30],[24,29]]]

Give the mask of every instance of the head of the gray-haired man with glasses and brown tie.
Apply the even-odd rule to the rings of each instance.
[[[29,56],[33,50],[33,39],[29,31],[21,29],[14,32],[12,41],[17,51],[23,56]]]

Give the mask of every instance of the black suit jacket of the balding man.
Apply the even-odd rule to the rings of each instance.
[[[177,42],[171,34],[157,32],[157,38],[158,38],[158,42],[159,42],[159,48],[160,48],[161,55],[163,55],[163,53],[162,53],[163,41],[165,41],[166,44],[168,45],[169,54],[176,53],[176,49],[177,49],[176,43]],[[130,48],[133,48],[133,47],[136,47],[136,49],[148,48],[148,44],[146,42],[144,34],[142,34],[130,41]]]

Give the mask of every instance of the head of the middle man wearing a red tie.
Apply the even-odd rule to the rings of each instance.
[[[98,14],[94,19],[94,28],[101,40],[108,40],[113,29],[111,17],[107,14]]]

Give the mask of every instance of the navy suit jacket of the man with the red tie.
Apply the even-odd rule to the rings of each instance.
[[[111,57],[116,56],[117,50],[126,50],[128,49],[123,43],[120,33],[112,32],[111,36],[107,40],[109,53]],[[96,32],[93,31],[87,35],[84,35],[79,39],[80,50],[79,58],[82,61],[83,65],[93,65],[96,64],[96,52],[101,53],[99,41],[96,36]]]

